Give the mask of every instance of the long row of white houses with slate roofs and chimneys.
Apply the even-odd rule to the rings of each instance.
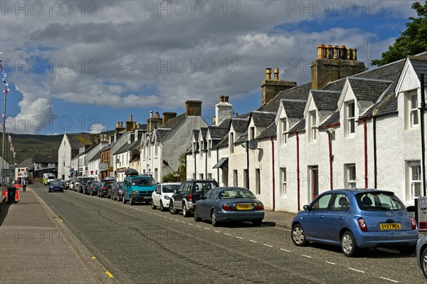
[[[365,71],[345,49],[332,53],[320,45],[312,82],[279,80],[277,69],[273,80],[266,73],[263,105],[246,115],[233,117],[221,96],[212,125],[201,117],[201,101],[190,100],[181,115],[151,112],[147,125],[130,116],[111,136],[65,134],[58,176],[121,181],[131,167],[161,182],[179,174],[186,153],[187,178],[247,187],[277,211],[296,212],[323,191],[344,187],[389,189],[406,206],[425,195],[426,119],[419,107],[427,53]]]

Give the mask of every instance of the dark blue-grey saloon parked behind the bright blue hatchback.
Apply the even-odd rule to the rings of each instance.
[[[206,191],[194,204],[194,221],[210,220],[212,226],[223,221],[251,221],[260,226],[264,204],[243,187],[217,187]]]

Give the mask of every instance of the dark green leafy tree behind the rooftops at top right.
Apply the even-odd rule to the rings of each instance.
[[[399,31],[401,35],[393,46],[381,54],[381,59],[371,61],[371,65],[381,66],[427,51],[427,0],[424,6],[415,2],[411,7],[416,10],[418,18],[410,17],[411,22],[406,23],[406,31]]]

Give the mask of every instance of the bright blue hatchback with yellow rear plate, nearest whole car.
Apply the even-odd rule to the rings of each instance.
[[[391,191],[335,189],[305,205],[292,220],[296,246],[309,241],[341,246],[344,256],[361,248],[391,247],[403,254],[415,252],[416,221]]]

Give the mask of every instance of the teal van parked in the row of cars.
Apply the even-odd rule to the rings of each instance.
[[[138,174],[135,169],[126,169],[125,174],[123,203],[130,201],[130,205],[135,205],[137,202],[150,202],[152,192],[157,185],[153,177],[147,174]]]

